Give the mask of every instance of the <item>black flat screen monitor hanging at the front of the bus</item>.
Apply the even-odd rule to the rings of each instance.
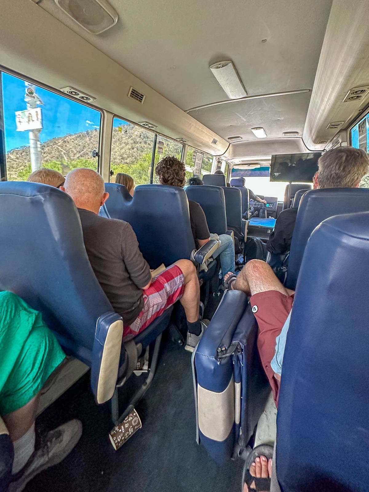
[[[272,155],[270,181],[312,183],[321,152]]]

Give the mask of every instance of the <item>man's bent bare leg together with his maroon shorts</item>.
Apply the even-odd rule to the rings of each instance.
[[[276,338],[292,309],[294,291],[286,289],[271,267],[261,260],[248,261],[231,288],[251,296],[252,312],[258,323],[257,348],[277,404],[280,376],[272,369],[271,361],[276,352]]]

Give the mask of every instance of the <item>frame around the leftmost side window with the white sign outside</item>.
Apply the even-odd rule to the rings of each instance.
[[[6,177],[5,180],[7,181],[7,172],[6,172],[6,148],[5,148],[5,127],[4,127],[4,118],[3,118],[3,110],[2,110],[2,74],[6,73],[7,75],[11,75],[12,77],[16,77],[17,79],[21,79],[23,81],[30,82],[31,84],[34,84],[37,87],[40,87],[41,89],[44,89],[45,91],[53,92],[54,94],[60,95],[64,97],[65,99],[69,99],[70,101],[76,102],[78,104],[81,104],[82,106],[86,106],[88,108],[94,109],[100,113],[100,123],[99,123],[99,141],[98,141],[98,148],[97,148],[97,172],[102,175],[102,141],[103,141],[103,132],[104,132],[104,123],[105,123],[105,115],[104,111],[101,108],[98,108],[97,106],[94,106],[91,103],[87,103],[85,101],[80,101],[77,100],[75,97],[70,96],[69,94],[62,92],[58,89],[55,89],[54,87],[50,87],[47,84],[43,84],[42,82],[38,82],[36,79],[33,77],[28,77],[24,74],[15,72],[14,70],[10,70],[8,68],[3,67],[0,65],[0,127],[1,127],[1,134],[0,135],[0,140],[1,137],[4,140],[3,141],[3,148],[1,149],[1,141],[0,141],[0,177],[2,179],[2,160],[3,160],[3,166],[4,166],[4,175]],[[1,150],[3,151],[3,154],[1,153]],[[0,181],[1,181],[0,179]]]

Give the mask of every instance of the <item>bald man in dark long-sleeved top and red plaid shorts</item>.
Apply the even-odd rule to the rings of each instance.
[[[145,330],[179,300],[195,347],[206,324],[199,319],[200,286],[193,263],[178,260],[152,278],[132,227],[124,220],[98,215],[109,198],[98,173],[92,169],[70,171],[61,189],[77,206],[92,269],[115,311],[123,317],[123,341]]]

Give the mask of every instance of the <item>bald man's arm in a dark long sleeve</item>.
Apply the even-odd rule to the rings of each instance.
[[[128,223],[122,228],[121,250],[125,268],[132,282],[139,289],[147,289],[152,282],[150,267],[142,256],[136,234]]]

